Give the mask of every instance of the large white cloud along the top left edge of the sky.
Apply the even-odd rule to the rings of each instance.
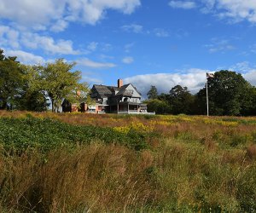
[[[53,31],[61,31],[69,21],[94,25],[108,9],[131,14],[140,4],[140,0],[2,0],[0,19],[27,28],[47,29],[49,26]]]

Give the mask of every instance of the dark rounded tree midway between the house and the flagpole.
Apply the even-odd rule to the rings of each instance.
[[[191,114],[194,104],[194,96],[190,94],[187,87],[176,85],[170,90],[168,96],[169,104],[172,106],[173,114]]]

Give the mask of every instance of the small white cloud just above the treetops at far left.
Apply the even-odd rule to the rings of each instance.
[[[44,58],[38,55],[33,55],[21,50],[5,50],[5,55],[7,56],[17,56],[17,60],[24,64],[43,64],[45,62]]]

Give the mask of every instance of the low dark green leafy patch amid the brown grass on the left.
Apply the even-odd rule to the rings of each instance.
[[[127,133],[109,127],[76,126],[49,118],[0,118],[0,143],[7,150],[25,151],[38,148],[49,151],[59,147],[75,147],[93,141],[119,143],[136,150],[148,147],[144,133]]]

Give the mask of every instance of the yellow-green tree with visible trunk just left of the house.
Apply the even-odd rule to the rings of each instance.
[[[49,96],[52,112],[59,112],[64,99],[79,103],[88,92],[87,84],[79,83],[81,72],[72,72],[74,66],[75,63],[67,63],[63,59],[55,60],[54,63],[48,63],[46,66],[37,66],[38,85]]]

